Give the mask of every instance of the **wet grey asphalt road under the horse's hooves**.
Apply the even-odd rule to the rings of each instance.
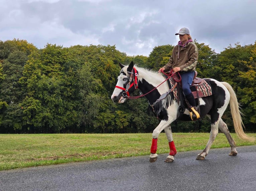
[[[172,163],[168,154],[78,162],[0,171],[1,191],[185,191],[256,190],[256,146],[210,149],[205,160],[199,151],[179,152]]]

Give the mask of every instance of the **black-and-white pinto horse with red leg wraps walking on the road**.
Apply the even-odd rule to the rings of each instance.
[[[166,157],[165,162],[173,162],[177,151],[170,124],[176,119],[191,121],[189,110],[185,108],[183,112],[180,112],[181,100],[178,101],[174,98],[173,94],[170,93],[177,87],[174,87],[174,83],[172,83],[172,88],[170,88],[166,78],[162,74],[137,67],[136,65],[134,66],[133,62],[131,62],[129,66],[124,66],[121,63],[119,63],[119,65],[121,67],[120,75],[118,76],[118,81],[111,95],[111,99],[114,103],[124,103],[127,98],[140,97],[130,97],[130,94],[136,89],[142,92],[143,95],[141,96],[145,96],[148,99],[150,107],[153,108],[152,110],[160,119],[158,126],[152,133],[149,161],[155,162],[157,160],[157,138],[161,131],[164,130],[170,148],[169,155]],[[219,132],[218,129],[225,134],[231,146],[229,155],[236,156],[238,152],[236,150],[235,141],[228,130],[227,124],[221,118],[229,103],[234,129],[238,137],[247,141],[254,141],[254,137],[246,135],[243,131],[243,122],[236,94],[231,85],[226,82],[219,82],[215,79],[203,80],[210,84],[214,93],[210,96],[196,98],[196,101],[200,103],[199,110],[201,118],[208,116],[211,120],[211,132],[205,149],[197,155],[196,159],[205,159]]]

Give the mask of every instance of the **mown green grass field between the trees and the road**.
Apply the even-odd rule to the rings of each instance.
[[[177,152],[202,150],[210,133],[173,133]],[[256,134],[249,134],[256,137]],[[256,145],[232,134],[237,146]],[[0,170],[77,161],[150,155],[151,133],[136,134],[0,134]],[[219,133],[211,148],[229,147]],[[169,153],[165,133],[157,153]],[[228,154],[228,153],[227,153]],[[196,156],[195,156],[196,158]]]

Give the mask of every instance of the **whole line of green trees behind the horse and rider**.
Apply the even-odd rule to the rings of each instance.
[[[237,93],[248,132],[256,132],[256,42],[239,43],[217,54],[198,43],[198,76],[225,81]],[[127,56],[115,46],[36,48],[26,40],[0,41],[0,133],[152,132],[159,121],[145,98],[114,104],[110,99],[119,62],[157,71],[173,45],[154,47],[148,57]],[[134,95],[139,95],[136,90]],[[230,110],[223,118],[233,131]],[[173,132],[209,132],[210,120],[175,121]]]

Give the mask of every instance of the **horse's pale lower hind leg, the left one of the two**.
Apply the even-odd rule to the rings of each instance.
[[[203,152],[198,154],[198,156],[196,158],[197,160],[204,160],[206,155],[208,154],[209,149],[211,148],[211,146],[213,144],[213,141],[215,140],[216,136],[218,135],[218,124],[219,124],[219,121],[217,121],[214,124],[211,124],[210,138],[209,138],[208,143],[207,143],[205,149],[203,150]]]

